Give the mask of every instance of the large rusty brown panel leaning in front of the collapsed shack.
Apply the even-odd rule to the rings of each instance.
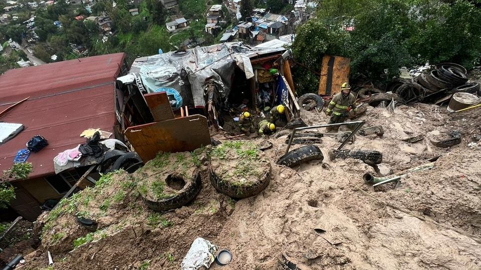
[[[144,162],[159,151],[192,151],[210,144],[207,118],[199,114],[131,126],[124,134]]]

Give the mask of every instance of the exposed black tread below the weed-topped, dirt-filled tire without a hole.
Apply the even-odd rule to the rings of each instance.
[[[267,163],[267,165],[269,166],[269,171],[254,183],[239,184],[238,182],[221,179],[212,168],[209,169],[210,182],[217,191],[232,198],[254,196],[262,192],[271,181],[272,166],[271,163]]]

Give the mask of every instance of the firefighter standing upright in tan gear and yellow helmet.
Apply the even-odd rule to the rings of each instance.
[[[342,123],[346,120],[349,111],[357,111],[356,97],[351,93],[351,86],[344,82],[341,85],[341,92],[334,95],[326,109],[326,114],[331,116],[329,123]],[[339,126],[328,126],[327,131],[339,131]]]

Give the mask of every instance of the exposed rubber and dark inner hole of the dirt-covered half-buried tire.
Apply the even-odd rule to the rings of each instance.
[[[182,188],[175,193],[173,196],[169,196],[162,199],[153,200],[147,196],[142,196],[145,204],[154,211],[167,211],[174,208],[182,207],[189,201],[194,199],[202,186],[200,180],[200,172],[196,171],[194,176],[188,181],[184,181],[180,175],[169,174],[165,180],[166,184],[169,185],[172,182],[174,189],[182,186]]]

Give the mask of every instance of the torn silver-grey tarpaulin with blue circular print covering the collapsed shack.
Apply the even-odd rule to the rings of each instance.
[[[204,107],[207,81],[214,81],[227,97],[235,66],[254,76],[250,57],[284,51],[285,48],[252,48],[242,42],[226,42],[186,51],[137,58],[130,69],[142,78],[147,92],[166,91],[173,109]]]

